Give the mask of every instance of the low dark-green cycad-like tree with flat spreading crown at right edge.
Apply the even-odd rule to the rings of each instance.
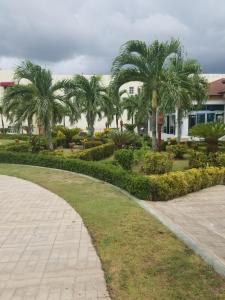
[[[208,153],[217,152],[219,138],[225,135],[225,124],[220,122],[197,124],[189,130],[189,135],[204,138]]]

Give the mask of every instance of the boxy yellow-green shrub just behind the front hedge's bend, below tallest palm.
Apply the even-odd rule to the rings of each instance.
[[[170,172],[172,167],[172,156],[168,153],[147,152],[144,156],[146,174],[163,174]]]

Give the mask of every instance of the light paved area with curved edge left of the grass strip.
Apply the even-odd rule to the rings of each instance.
[[[0,299],[109,299],[80,216],[57,195],[2,175]]]

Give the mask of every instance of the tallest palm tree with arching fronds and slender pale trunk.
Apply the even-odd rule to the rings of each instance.
[[[146,101],[151,100],[151,131],[153,150],[157,149],[156,125],[159,90],[164,79],[167,59],[180,51],[180,43],[171,39],[168,42],[126,42],[114,59],[112,75],[119,86],[130,81],[143,83]]]

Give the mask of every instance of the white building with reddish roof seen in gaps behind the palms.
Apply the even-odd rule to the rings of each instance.
[[[91,75],[85,75],[90,77]],[[223,120],[225,123],[225,74],[204,74],[203,75],[209,82],[209,99],[202,106],[201,110],[192,111],[187,117],[183,119],[182,125],[182,137],[188,138],[188,130],[195,124],[207,123],[216,120]],[[62,79],[72,78],[72,75],[53,75],[54,82]],[[107,86],[110,82],[110,75],[102,76],[102,84]],[[0,69],[0,98],[4,94],[4,90],[13,84],[13,71],[11,70],[1,70]],[[124,89],[127,89],[129,94],[138,93],[138,89],[141,86],[139,82],[130,82],[124,85]],[[163,127],[163,138],[175,137],[177,133],[177,122],[176,122],[176,112],[171,115],[166,115],[164,117],[164,127]],[[122,117],[123,123],[127,123],[126,112]],[[5,120],[6,122],[6,120]],[[97,131],[103,130],[105,128],[106,119],[96,120],[95,129]],[[146,121],[146,126],[148,127],[148,132],[150,133],[150,122]],[[66,125],[70,126],[69,121],[66,120]],[[6,122],[6,127],[10,126]],[[1,125],[0,125],[1,127]],[[84,116],[79,120],[74,127],[79,127],[81,129],[86,129],[87,124]],[[111,127],[116,127],[115,120],[111,124]]]

